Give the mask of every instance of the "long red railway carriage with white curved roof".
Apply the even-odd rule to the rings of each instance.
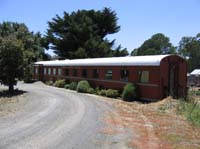
[[[131,82],[140,98],[158,100],[186,95],[187,64],[177,55],[41,61],[34,65],[34,79],[88,80],[92,86],[112,89]]]

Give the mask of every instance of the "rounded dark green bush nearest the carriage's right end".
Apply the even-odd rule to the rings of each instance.
[[[126,84],[124,87],[122,98],[124,101],[132,101],[136,99],[137,93],[136,93],[136,86],[132,83]]]

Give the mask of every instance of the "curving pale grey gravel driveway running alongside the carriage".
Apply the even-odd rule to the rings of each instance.
[[[127,148],[127,135],[102,133],[106,112],[115,114],[107,99],[41,82],[18,88],[26,91],[23,104],[0,115],[0,149]]]

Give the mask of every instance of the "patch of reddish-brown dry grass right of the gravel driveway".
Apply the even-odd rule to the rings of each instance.
[[[142,104],[114,101],[118,115],[107,117],[107,124],[130,129],[132,148],[200,148],[200,128],[177,114],[177,100]],[[114,124],[113,124],[114,122]]]

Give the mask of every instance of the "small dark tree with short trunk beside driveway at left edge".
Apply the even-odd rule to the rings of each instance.
[[[23,76],[23,47],[15,37],[0,37],[0,82],[13,92],[17,79]]]

